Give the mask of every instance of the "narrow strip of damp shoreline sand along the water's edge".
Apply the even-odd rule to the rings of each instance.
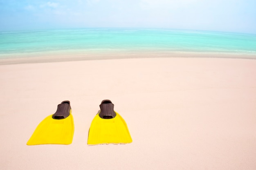
[[[17,54],[18,55],[18,54]],[[23,54],[24,55],[24,54]],[[36,57],[35,57],[36,56]],[[9,64],[29,64],[48,62],[70,62],[85,60],[112,60],[129,58],[234,58],[234,59],[256,59],[256,54],[245,53],[206,53],[206,52],[170,52],[170,51],[124,51],[124,52],[104,52],[104,53],[30,53],[23,57],[12,57],[0,59],[0,65]]]

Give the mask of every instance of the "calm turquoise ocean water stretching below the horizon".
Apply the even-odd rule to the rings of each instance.
[[[130,51],[256,55],[256,34],[99,28],[0,32],[0,59]]]

